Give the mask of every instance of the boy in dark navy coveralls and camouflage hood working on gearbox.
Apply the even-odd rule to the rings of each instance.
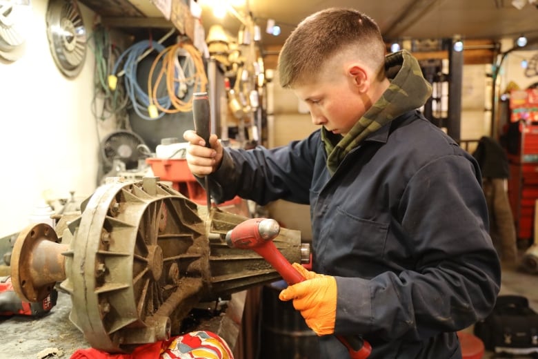
[[[281,86],[321,126],[288,146],[212,148],[193,131],[187,162],[217,202],[310,204],[313,272],[281,292],[319,336],[361,335],[370,358],[461,358],[456,331],[490,313],[500,265],[475,159],[416,108],[431,94],[416,59],[385,56],[377,24],[330,8],[307,17],[279,55]]]

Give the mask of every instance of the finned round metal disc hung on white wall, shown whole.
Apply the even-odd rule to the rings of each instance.
[[[79,74],[86,58],[86,28],[74,0],[49,0],[47,37],[58,68],[67,77]]]

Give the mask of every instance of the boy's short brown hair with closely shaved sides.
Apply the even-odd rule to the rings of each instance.
[[[305,81],[318,73],[328,59],[351,49],[372,72],[383,68],[385,43],[379,26],[366,14],[346,8],[328,8],[306,17],[280,51],[281,86],[290,88]]]

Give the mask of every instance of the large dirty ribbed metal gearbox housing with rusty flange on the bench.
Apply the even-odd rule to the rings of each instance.
[[[54,287],[50,278],[60,282],[72,301],[70,320],[88,343],[129,352],[181,333],[182,321],[200,303],[280,278],[254,251],[226,245],[226,233],[247,219],[216,207],[208,213],[156,177],[111,179],[79,217],[57,226],[58,238],[46,224],[28,232],[46,237],[41,241],[19,235],[14,255],[26,253],[27,259],[19,261],[13,280],[41,295]],[[299,231],[281,229],[275,245],[290,262],[299,262],[300,240]],[[35,242],[41,244],[28,245]],[[40,255],[33,253],[37,248]],[[59,257],[62,265],[50,264],[49,275],[27,270]]]

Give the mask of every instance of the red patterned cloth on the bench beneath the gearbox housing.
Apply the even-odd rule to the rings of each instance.
[[[70,359],[233,359],[233,355],[217,334],[192,331],[169,340],[141,345],[128,354],[111,354],[90,348],[75,351]]]

